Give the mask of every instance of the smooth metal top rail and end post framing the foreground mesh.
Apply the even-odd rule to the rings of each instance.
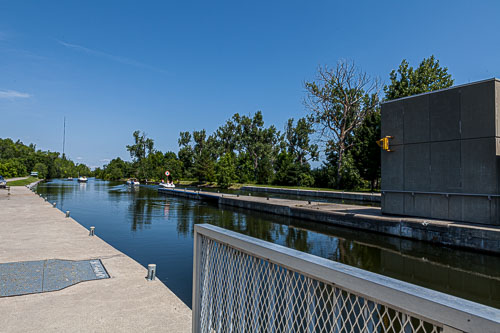
[[[321,280],[348,291],[412,313],[464,332],[498,332],[500,310],[452,295],[413,285],[356,267],[331,261],[281,245],[242,235],[209,224],[197,224],[193,280],[193,320],[198,313],[196,302],[199,286],[196,258],[200,237],[203,235],[241,252],[270,261],[311,278]],[[197,289],[198,288],[198,289]],[[194,322],[193,322],[194,324]],[[195,327],[195,325],[193,326]]]

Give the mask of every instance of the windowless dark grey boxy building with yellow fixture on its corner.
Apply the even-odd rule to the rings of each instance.
[[[500,225],[500,80],[382,104],[382,213]]]

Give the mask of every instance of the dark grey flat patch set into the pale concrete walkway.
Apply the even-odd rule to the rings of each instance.
[[[39,260],[0,264],[0,297],[61,290],[109,278],[101,260]]]

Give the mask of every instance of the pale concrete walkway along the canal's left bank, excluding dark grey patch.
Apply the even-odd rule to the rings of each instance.
[[[101,259],[110,279],[0,297],[1,332],[190,332],[191,310],[146,269],[25,187],[0,192],[0,263]],[[99,230],[96,229],[96,235]]]

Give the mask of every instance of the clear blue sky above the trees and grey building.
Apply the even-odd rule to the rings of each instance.
[[[262,110],[306,114],[303,83],[349,59],[387,82],[434,54],[456,84],[500,76],[499,1],[1,1],[0,137],[99,166],[132,132],[177,151],[180,131]]]

